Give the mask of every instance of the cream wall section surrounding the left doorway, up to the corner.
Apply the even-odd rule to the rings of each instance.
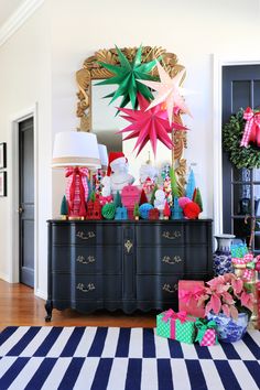
[[[11,252],[9,242],[14,232],[11,230],[10,208],[13,160],[11,151],[11,121],[37,106],[39,163],[37,170],[39,204],[36,226],[39,231],[39,257],[36,259],[39,280],[35,290],[39,294],[46,292],[47,239],[45,220],[52,216],[52,123],[51,123],[51,41],[50,18],[46,4],[23,24],[18,32],[0,47],[0,140],[8,142],[8,194],[0,198],[0,278],[10,280]],[[15,210],[13,210],[15,213]]]

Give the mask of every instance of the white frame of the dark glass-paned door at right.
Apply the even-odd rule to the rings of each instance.
[[[223,67],[236,65],[260,65],[260,57],[241,56],[240,54],[236,56],[213,55],[213,213],[215,235],[228,232],[223,231]]]

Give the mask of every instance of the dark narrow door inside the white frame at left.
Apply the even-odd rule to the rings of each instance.
[[[33,117],[18,126],[19,281],[34,286],[34,129]]]

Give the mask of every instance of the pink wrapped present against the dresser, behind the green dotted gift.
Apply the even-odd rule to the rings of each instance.
[[[178,281],[178,310],[187,312],[194,317],[204,318],[205,307],[197,306],[197,301],[204,293],[204,282],[201,280]]]

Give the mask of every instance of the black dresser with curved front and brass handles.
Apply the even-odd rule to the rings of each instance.
[[[212,220],[48,220],[48,297],[53,307],[177,308],[180,279],[212,278]]]

